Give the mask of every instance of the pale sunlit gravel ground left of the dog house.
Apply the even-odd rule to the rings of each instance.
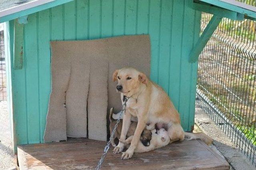
[[[0,101],[0,170],[16,169],[6,101]]]

